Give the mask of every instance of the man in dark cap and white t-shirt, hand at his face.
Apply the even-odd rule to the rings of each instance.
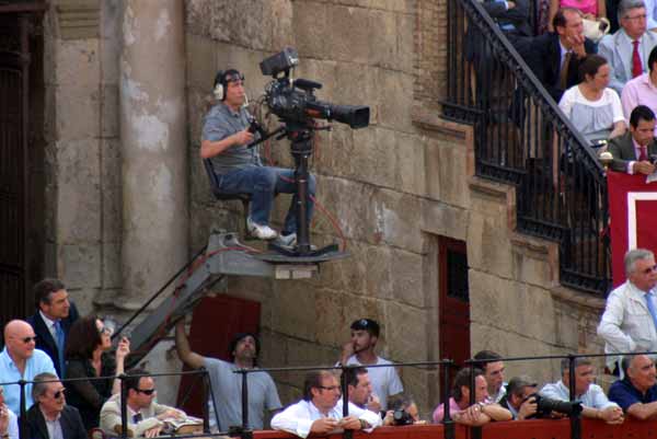
[[[373,394],[381,403],[381,409],[385,411],[388,397],[402,393],[404,386],[393,366],[371,367],[392,365],[392,362],[374,353],[379,332],[379,324],[371,319],[358,319],[351,323],[351,339],[343,346],[339,363],[368,368],[368,374],[374,390]]]

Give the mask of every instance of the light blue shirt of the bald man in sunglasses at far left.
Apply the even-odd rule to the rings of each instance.
[[[32,357],[25,361],[25,373],[21,372],[13,362],[7,347],[0,353],[0,381],[2,383],[16,382],[20,380],[32,380],[39,373],[49,372],[57,376],[53,360],[41,349],[34,349]],[[13,412],[21,413],[21,386],[19,384],[2,384],[4,388],[4,404]],[[32,400],[32,383],[25,385],[25,409],[34,404]]]

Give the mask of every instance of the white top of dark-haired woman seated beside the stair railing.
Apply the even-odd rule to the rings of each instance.
[[[621,99],[613,89],[604,89],[597,101],[587,100],[579,85],[566,90],[558,107],[587,140],[608,139],[613,124],[624,122]]]

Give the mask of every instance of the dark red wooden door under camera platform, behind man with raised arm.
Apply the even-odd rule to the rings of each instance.
[[[228,346],[235,333],[260,331],[261,304],[230,296],[204,298],[194,309],[189,345],[204,357],[230,361]],[[189,370],[185,366],[183,370]],[[203,415],[203,382],[195,376],[183,376],[178,388],[178,404],[186,413]],[[186,401],[185,401],[186,400]]]

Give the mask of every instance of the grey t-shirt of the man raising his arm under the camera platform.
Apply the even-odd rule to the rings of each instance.
[[[239,368],[232,362],[217,358],[204,357],[204,365],[210,376],[215,402],[219,412],[221,431],[228,431],[230,426],[242,425],[242,374],[233,373]],[[265,409],[275,411],[281,407],[276,384],[267,372],[249,373],[249,426],[262,430],[265,425]],[[215,411],[212,401],[210,408],[210,427],[215,428]]]

